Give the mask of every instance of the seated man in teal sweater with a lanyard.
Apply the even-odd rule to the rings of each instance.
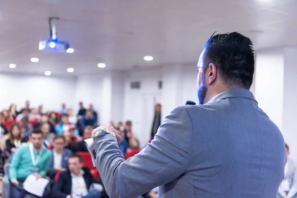
[[[30,135],[30,143],[19,148],[11,159],[9,166],[9,179],[11,198],[24,198],[27,192],[22,188],[22,183],[30,175],[37,179],[44,177],[49,169],[51,158],[50,151],[43,146],[44,137],[40,130],[35,130]],[[46,190],[43,198],[49,198]]]

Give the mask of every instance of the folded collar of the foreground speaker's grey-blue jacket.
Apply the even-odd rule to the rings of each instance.
[[[253,94],[250,91],[246,89],[234,89],[234,90],[229,90],[227,92],[223,92],[217,95],[216,97],[209,100],[207,104],[211,102],[215,102],[220,99],[227,99],[227,98],[245,98],[245,99],[251,99],[257,102],[257,100],[254,98]]]

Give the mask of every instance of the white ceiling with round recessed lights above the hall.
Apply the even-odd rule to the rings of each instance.
[[[79,75],[195,64],[215,31],[241,32],[256,49],[294,46],[296,10],[297,0],[1,0],[0,72],[61,75],[73,67],[70,75]],[[60,17],[58,38],[74,53],[38,50],[49,38],[50,16]]]

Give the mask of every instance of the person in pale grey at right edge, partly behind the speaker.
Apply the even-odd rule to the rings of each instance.
[[[297,198],[297,170],[292,159],[288,158],[290,150],[286,145],[285,178],[282,181],[277,198]]]

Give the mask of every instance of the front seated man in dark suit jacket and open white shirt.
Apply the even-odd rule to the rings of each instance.
[[[62,172],[53,185],[52,198],[101,198],[99,190],[89,191],[96,183],[89,168],[82,168],[82,157],[73,154],[68,158],[69,170]],[[102,188],[102,187],[101,187]]]

